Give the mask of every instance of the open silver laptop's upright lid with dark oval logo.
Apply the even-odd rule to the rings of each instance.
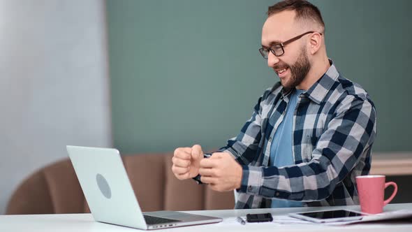
[[[147,229],[118,150],[67,146],[67,152],[96,221]]]

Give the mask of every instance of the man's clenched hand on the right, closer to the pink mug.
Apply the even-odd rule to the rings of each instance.
[[[215,191],[239,189],[242,182],[242,166],[226,152],[213,153],[200,161],[200,180]]]

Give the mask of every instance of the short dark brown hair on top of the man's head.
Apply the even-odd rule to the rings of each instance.
[[[325,22],[323,22],[321,11],[309,1],[305,0],[284,0],[279,1],[273,6],[269,6],[267,17],[284,10],[295,10],[297,20],[311,20],[319,24],[325,30]],[[322,31],[325,32],[325,31]]]

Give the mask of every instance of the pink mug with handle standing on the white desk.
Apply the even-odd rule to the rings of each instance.
[[[362,212],[376,214],[383,212],[383,206],[388,205],[395,197],[398,187],[395,182],[385,183],[385,175],[360,175],[356,177],[360,210]],[[386,187],[395,187],[390,198],[384,201]]]

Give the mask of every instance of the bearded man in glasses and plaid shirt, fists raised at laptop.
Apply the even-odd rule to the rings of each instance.
[[[236,189],[235,208],[358,204],[355,177],[371,166],[374,103],[328,59],[316,6],[281,1],[267,15],[260,53],[280,82],[226,147],[205,155],[200,145],[177,148],[172,171],[216,191]]]

